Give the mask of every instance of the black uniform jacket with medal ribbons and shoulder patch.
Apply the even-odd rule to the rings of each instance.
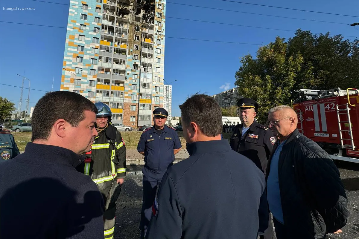
[[[230,147],[250,158],[265,173],[267,162],[277,141],[271,130],[253,121],[247,132],[242,135],[243,124],[237,124],[230,137]]]

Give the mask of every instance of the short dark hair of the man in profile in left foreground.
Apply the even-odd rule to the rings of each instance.
[[[54,91],[46,93],[35,105],[31,117],[32,139],[48,139],[56,120],[64,119],[71,126],[77,127],[85,119],[84,111],[98,113],[93,102],[71,91]]]

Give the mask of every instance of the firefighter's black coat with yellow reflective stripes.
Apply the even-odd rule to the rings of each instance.
[[[109,137],[111,130],[114,139]],[[99,190],[111,187],[116,178],[126,177],[126,146],[121,133],[111,123],[95,137],[91,151],[85,156],[87,159],[77,169],[89,175]]]

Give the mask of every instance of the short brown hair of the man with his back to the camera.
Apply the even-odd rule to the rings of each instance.
[[[208,137],[222,133],[222,110],[209,95],[195,94],[180,105],[181,122],[186,126],[195,122],[201,132]]]

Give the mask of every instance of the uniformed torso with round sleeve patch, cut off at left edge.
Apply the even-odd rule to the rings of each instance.
[[[20,151],[15,143],[14,136],[0,126],[0,163],[15,158],[19,154]]]

